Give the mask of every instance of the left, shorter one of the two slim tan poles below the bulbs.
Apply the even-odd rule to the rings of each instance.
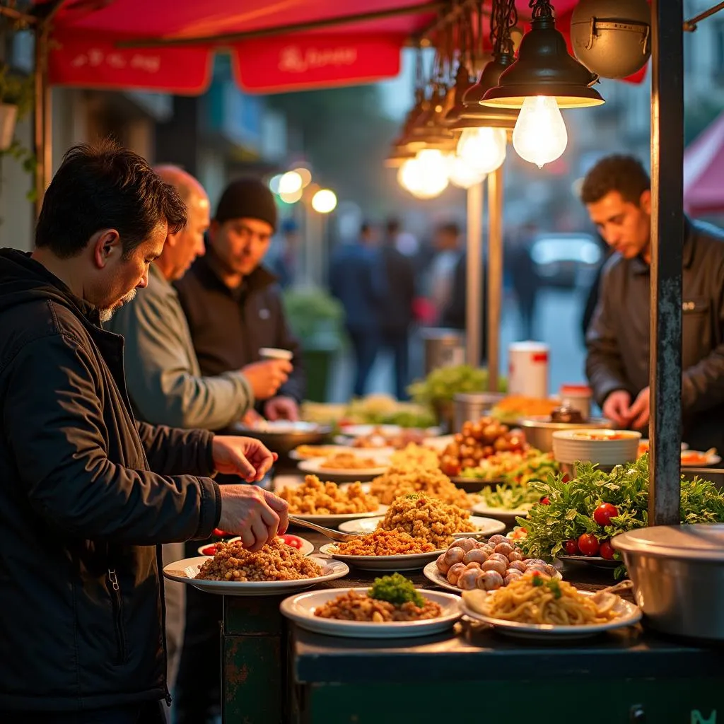
[[[468,188],[468,250],[466,252],[466,361],[471,367],[480,366],[481,294],[483,267],[483,184]]]

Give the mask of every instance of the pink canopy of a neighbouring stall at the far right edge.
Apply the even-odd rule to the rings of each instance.
[[[724,214],[724,113],[686,147],[683,206],[691,216]]]

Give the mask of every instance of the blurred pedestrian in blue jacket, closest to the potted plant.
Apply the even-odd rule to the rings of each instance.
[[[329,288],[345,308],[345,324],[355,358],[353,395],[363,397],[382,342],[379,316],[387,290],[379,233],[365,222],[359,240],[339,248],[329,271]]]

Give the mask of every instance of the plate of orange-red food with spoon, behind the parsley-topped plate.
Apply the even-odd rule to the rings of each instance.
[[[444,552],[424,538],[397,530],[375,530],[341,543],[328,543],[319,551],[363,571],[416,571]]]

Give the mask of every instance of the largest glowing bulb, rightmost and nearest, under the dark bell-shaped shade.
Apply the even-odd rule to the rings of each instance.
[[[567,145],[568,132],[555,98],[526,98],[513,130],[513,148],[518,156],[540,169],[560,158]]]

